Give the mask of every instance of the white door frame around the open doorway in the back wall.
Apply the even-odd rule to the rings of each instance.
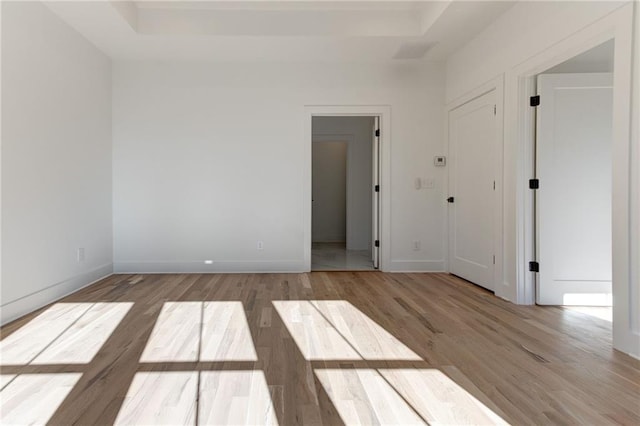
[[[311,144],[313,117],[380,117],[380,271],[388,271],[391,258],[391,107],[388,105],[305,105],[303,152],[304,270],[311,271]],[[373,141],[372,141],[373,143]]]

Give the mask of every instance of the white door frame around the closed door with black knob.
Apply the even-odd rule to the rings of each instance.
[[[449,126],[450,115],[457,108],[473,101],[474,99],[479,98],[489,92],[495,91],[496,93],[496,140],[493,146],[493,153],[495,155],[495,163],[494,163],[494,179],[496,181],[496,190],[494,191],[493,197],[493,247],[494,247],[494,255],[496,256],[496,263],[494,265],[493,272],[493,291],[496,296],[500,296],[501,287],[504,285],[504,272],[503,272],[503,152],[504,152],[504,137],[503,137],[503,119],[504,119],[504,78],[502,75],[492,79],[491,81],[483,84],[482,86],[468,92],[467,94],[453,100],[449,104],[447,104],[446,112],[447,119],[444,124],[444,140],[445,140],[445,152],[447,157],[451,158],[451,141],[449,139]],[[451,168],[449,167],[446,173],[445,185],[444,185],[444,194],[446,197],[449,195],[450,190],[450,179],[451,179]],[[445,197],[445,198],[446,198]],[[451,223],[449,221],[449,205],[446,202],[446,199],[442,200],[443,204],[443,217],[445,218],[445,232],[443,233],[443,247],[445,253],[445,270],[447,272],[451,272],[451,255],[450,255],[450,237],[451,237]]]

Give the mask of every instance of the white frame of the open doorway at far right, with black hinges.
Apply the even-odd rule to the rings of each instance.
[[[515,294],[509,299],[518,304],[534,304],[536,292],[535,273],[526,265],[535,259],[533,194],[528,180],[533,177],[535,115],[529,106],[529,97],[536,95],[535,78],[580,53],[613,39],[614,87],[613,87],[613,145],[612,145],[612,221],[613,243],[613,346],[623,352],[638,356],[640,331],[633,323],[639,312],[638,294],[634,294],[631,268],[631,90],[633,52],[633,8],[627,4],[594,24],[549,47],[522,62],[506,73],[505,137],[514,141],[510,153],[515,170],[509,173],[515,181]],[[638,11],[636,11],[638,13]],[[636,71],[637,72],[637,71]],[[621,83],[623,82],[623,83]],[[635,88],[638,90],[638,88]],[[635,165],[637,167],[637,164]],[[637,220],[637,219],[635,219]],[[637,226],[637,225],[635,225]],[[637,238],[637,237],[636,237]],[[541,265],[540,267],[544,267]]]

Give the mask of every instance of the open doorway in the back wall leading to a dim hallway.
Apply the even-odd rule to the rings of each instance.
[[[378,119],[312,117],[311,269],[378,267]]]

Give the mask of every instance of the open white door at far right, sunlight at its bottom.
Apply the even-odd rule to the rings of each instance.
[[[538,77],[537,303],[611,305],[613,77]]]

